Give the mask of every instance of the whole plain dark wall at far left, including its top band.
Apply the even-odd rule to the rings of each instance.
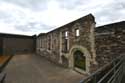
[[[35,52],[35,36],[0,33],[0,55]]]

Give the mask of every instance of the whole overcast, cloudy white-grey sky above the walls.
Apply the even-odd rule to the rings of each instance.
[[[125,0],[0,0],[0,32],[48,32],[89,13],[96,26],[125,21]]]

